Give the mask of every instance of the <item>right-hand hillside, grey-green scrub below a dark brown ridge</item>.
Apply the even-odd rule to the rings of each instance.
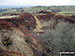
[[[59,56],[58,52],[75,51],[75,17],[49,11],[38,13],[37,19],[40,20],[40,29],[43,32],[36,35],[46,44],[46,47],[50,48],[50,55]]]

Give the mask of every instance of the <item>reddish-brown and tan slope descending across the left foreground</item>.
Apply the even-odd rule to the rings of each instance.
[[[34,19],[30,16],[29,19],[23,17],[0,19],[0,56],[48,56],[44,43],[28,31],[28,27],[33,26],[25,20],[34,24]]]

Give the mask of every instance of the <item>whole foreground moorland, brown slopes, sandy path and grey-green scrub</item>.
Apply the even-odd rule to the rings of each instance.
[[[0,35],[0,48],[6,55],[59,56],[75,51],[75,15],[25,12],[0,19]]]

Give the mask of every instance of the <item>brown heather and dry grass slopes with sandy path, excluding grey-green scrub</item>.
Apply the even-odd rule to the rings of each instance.
[[[48,27],[53,30],[56,29],[53,31],[55,34],[58,30],[56,27],[58,27],[61,22],[69,22],[69,24],[75,23],[74,15],[64,16],[48,11],[40,11],[37,14],[38,15],[33,16],[30,13],[23,13],[20,14],[18,18],[0,19],[1,52],[7,56],[8,53],[9,56],[17,56],[17,53],[19,54],[18,56],[50,56],[49,53],[51,50],[46,46],[44,40],[42,41],[42,38],[38,37],[47,36],[48,33],[46,30]],[[37,30],[39,35],[36,33],[33,34],[34,29]],[[42,32],[42,34],[40,34],[40,32]],[[41,39],[41,41],[39,39]]]

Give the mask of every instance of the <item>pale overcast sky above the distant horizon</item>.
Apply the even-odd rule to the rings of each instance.
[[[75,5],[75,0],[0,0],[1,6]]]

